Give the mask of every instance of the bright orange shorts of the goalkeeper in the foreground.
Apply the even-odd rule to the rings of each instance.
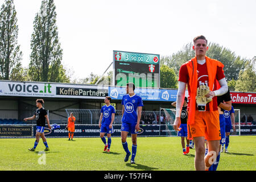
[[[188,125],[188,139],[192,139],[194,137],[205,137],[206,140],[221,139],[218,110],[196,110],[195,123]]]

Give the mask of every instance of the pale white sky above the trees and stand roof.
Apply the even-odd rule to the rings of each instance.
[[[72,79],[88,77],[91,72],[102,75],[113,61],[113,50],[168,56],[197,35],[243,58],[256,56],[255,0],[54,2],[62,63]],[[30,63],[33,22],[41,3],[14,0],[23,67]]]

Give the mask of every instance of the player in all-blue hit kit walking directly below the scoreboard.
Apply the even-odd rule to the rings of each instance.
[[[121,138],[123,149],[126,152],[125,162],[129,160],[131,155],[131,164],[135,164],[134,159],[137,152],[137,133],[139,131],[139,122],[141,121],[142,111],[142,98],[134,93],[135,85],[129,83],[126,85],[126,95],[122,98],[122,126],[121,126]],[[126,142],[127,135],[131,133],[131,141],[133,146],[131,152],[128,149]]]

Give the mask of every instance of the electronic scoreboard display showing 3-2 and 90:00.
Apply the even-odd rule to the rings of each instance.
[[[113,51],[114,83],[126,86],[159,88],[160,55],[151,53]]]

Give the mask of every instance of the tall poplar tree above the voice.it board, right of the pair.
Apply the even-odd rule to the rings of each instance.
[[[40,12],[34,19],[28,71],[32,81],[69,82],[70,80],[61,65],[63,49],[60,47],[55,9],[53,0],[43,0]]]

